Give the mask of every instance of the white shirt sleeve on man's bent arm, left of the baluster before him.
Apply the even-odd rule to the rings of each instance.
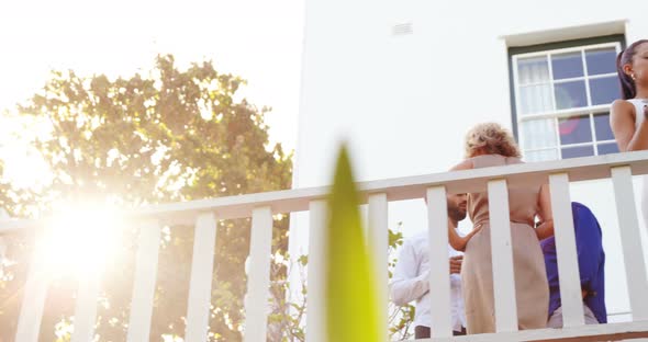
[[[421,255],[417,255],[414,244],[406,240],[389,286],[391,300],[395,305],[406,305],[429,290],[429,272],[418,274],[420,264]]]

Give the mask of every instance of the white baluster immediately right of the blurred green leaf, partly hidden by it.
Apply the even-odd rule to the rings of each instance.
[[[376,292],[380,303],[378,305],[378,317],[380,319],[380,327],[384,327],[386,330],[380,337],[382,341],[388,340],[388,249],[389,249],[389,227],[388,227],[388,202],[387,194],[372,194],[369,195],[369,247],[371,249],[372,261],[373,261],[373,274],[376,276]],[[377,341],[380,342],[380,341]]]

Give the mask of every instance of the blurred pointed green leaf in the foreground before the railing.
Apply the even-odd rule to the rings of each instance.
[[[387,331],[378,315],[372,260],[358,205],[348,151],[343,147],[328,198],[325,239],[327,341],[376,342],[384,340]]]

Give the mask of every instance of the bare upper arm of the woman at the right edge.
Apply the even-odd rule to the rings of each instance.
[[[644,107],[644,111],[648,109]],[[622,152],[648,149],[648,119],[644,119],[639,128],[635,129],[637,115],[645,114],[635,113],[635,106],[627,101],[616,100],[612,104],[610,126]]]

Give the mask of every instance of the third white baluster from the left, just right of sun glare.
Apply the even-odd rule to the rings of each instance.
[[[153,298],[157,276],[160,225],[156,219],[142,223],[137,244],[135,281],[126,341],[148,341]]]

